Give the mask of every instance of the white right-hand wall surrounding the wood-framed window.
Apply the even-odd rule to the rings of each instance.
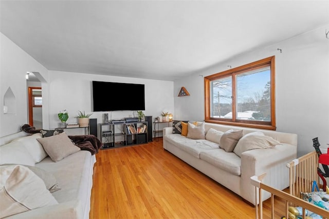
[[[314,150],[314,137],[319,137],[321,148],[326,148],[329,144],[329,39],[325,37],[326,29],[329,25],[241,54],[175,81],[175,94],[184,86],[191,95],[175,96],[175,115],[181,120],[204,120],[204,81],[200,74],[211,75],[227,70],[228,65],[234,68],[275,55],[277,131],[298,134],[298,156]]]

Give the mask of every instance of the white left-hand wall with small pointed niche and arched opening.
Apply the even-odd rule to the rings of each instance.
[[[37,71],[48,77],[48,70],[0,33],[0,137],[21,131],[28,122],[25,74]],[[11,88],[15,96],[15,113],[4,114],[4,95]]]

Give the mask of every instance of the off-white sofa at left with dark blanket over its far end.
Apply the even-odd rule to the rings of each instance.
[[[20,135],[25,134],[20,133]],[[19,137],[14,141],[11,141],[8,136],[5,140],[2,139],[1,142],[6,142],[6,144],[0,146],[0,164],[2,165],[0,168],[6,167],[7,164],[20,164],[20,167],[21,165],[25,165],[24,168],[27,167],[26,165],[34,166],[36,169],[39,168],[52,174],[57,180],[57,186],[61,188],[50,193],[58,204],[28,210],[6,218],[89,218],[95,155],[79,148],[62,160],[54,162],[46,151],[43,151],[42,145],[36,138],[42,138],[41,133]],[[4,175],[0,180],[4,181]],[[1,186],[4,188],[4,185]],[[33,193],[28,195],[33,195]],[[0,212],[0,216],[2,213]]]

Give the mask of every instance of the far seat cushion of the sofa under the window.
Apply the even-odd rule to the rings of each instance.
[[[215,150],[218,148],[218,144],[210,142],[208,140],[194,140],[182,136],[180,134],[168,134],[165,135],[164,138],[166,139],[166,141],[169,141],[177,148],[197,158],[200,158],[199,154],[202,151]]]

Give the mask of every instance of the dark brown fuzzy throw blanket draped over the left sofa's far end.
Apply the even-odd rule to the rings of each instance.
[[[30,126],[29,124],[24,124],[21,127],[22,131],[35,134],[41,133],[42,129],[35,129],[34,126]],[[92,134],[89,135],[68,135],[70,140],[74,142],[74,144],[79,147],[81,150],[86,150],[92,153],[92,155],[98,153],[98,151],[103,147],[103,143]]]

